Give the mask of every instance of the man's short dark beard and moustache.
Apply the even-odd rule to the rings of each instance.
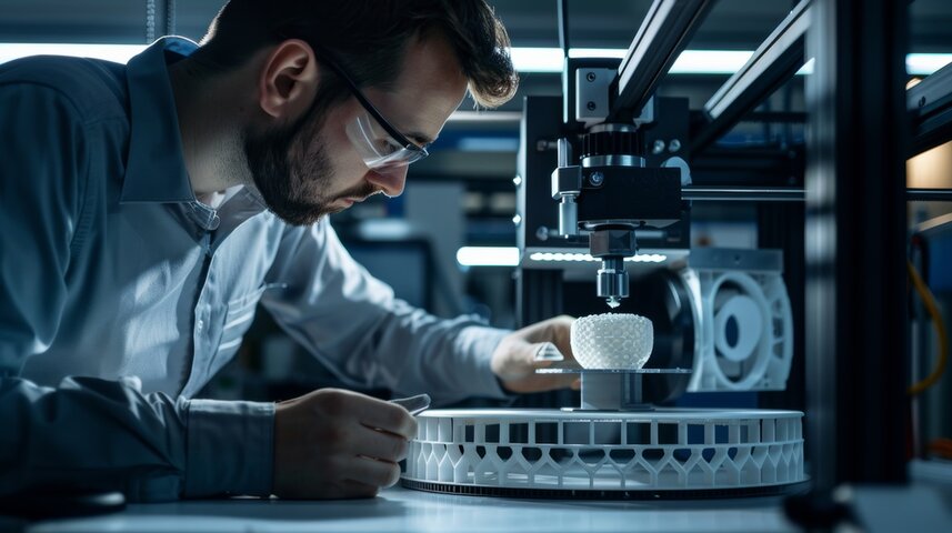
[[[377,188],[368,182],[331,193],[333,170],[323,142],[317,137],[321,128],[314,111],[297,122],[253,134],[245,130],[244,157],[254,187],[275,217],[291,225],[311,225],[322,217],[342,211],[334,200],[365,198]],[[318,142],[312,142],[318,138]]]

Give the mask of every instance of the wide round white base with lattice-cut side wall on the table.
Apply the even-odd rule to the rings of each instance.
[[[771,413],[738,420],[705,419],[698,411],[678,418],[668,412],[663,420],[652,413],[547,420],[544,414],[467,419],[430,411],[419,419],[404,477],[624,491],[803,481],[802,413]]]

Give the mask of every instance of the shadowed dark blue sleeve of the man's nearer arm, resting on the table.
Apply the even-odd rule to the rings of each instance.
[[[273,405],[143,394],[136,380],[22,379],[60,328],[86,235],[88,129],[68,95],[0,83],[0,496],[121,490],[132,501],[271,491]]]

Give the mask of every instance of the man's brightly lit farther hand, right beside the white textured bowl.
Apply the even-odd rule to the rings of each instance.
[[[571,386],[578,389],[578,374],[537,374],[535,369],[552,364],[551,360],[540,360],[537,354],[551,342],[559,349],[565,361],[574,361],[570,334],[571,316],[555,316],[503,338],[492,354],[492,372],[502,380],[510,392],[542,392]]]

